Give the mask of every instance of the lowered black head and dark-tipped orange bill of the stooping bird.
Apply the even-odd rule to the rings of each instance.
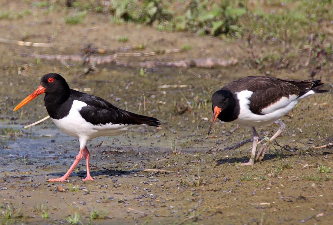
[[[232,107],[235,107],[234,97],[229,90],[219,90],[215,92],[211,97],[211,101],[212,101],[213,117],[211,119],[211,123],[208,129],[208,135],[216,118],[220,115],[220,113],[228,111],[229,109],[232,109]]]

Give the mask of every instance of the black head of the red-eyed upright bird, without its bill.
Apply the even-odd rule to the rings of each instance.
[[[66,80],[56,73],[45,74],[41,78],[41,86],[45,88],[44,93],[51,95],[69,91]]]

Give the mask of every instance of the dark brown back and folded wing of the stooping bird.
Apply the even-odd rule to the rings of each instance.
[[[250,110],[255,114],[261,114],[261,110],[274,104],[282,97],[289,95],[297,97],[304,95],[312,88],[322,85],[320,80],[289,80],[274,77],[249,76],[226,84],[222,89],[231,92],[248,90],[253,92],[250,97]]]

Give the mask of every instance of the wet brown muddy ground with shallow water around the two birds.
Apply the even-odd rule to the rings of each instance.
[[[11,1],[6,7],[27,7]],[[66,12],[50,14],[33,8],[23,19],[0,20],[0,37],[9,40],[53,43],[55,47],[22,47],[0,44],[0,196],[1,224],[68,224],[79,215],[82,224],[329,224],[333,219],[332,172],[320,173],[322,163],[332,168],[332,148],[313,148],[332,142],[332,94],[303,100],[282,120],[283,135],[272,144],[262,162],[237,166],[248,160],[251,142],[231,146],[252,136],[234,124],[217,122],[205,139],[211,119],[210,95],[229,81],[247,75],[270,74],[280,78],[307,79],[295,69],[305,62],[299,53],[287,69],[249,69],[248,54],[235,43],[192,33],[161,32],[135,24],[114,25],[108,17],[89,13],[83,24],[68,25]],[[51,24],[29,25],[51,19]],[[128,42],[118,41],[128,36]],[[43,61],[26,57],[39,54],[78,54],[88,43],[107,49],[146,44],[133,52],[193,48],[176,54],[128,57],[128,61],[175,61],[216,57],[239,60],[236,66],[215,69],[148,69],[97,65],[99,73],[84,74],[86,65]],[[258,54],[275,51],[258,46]],[[78,140],[64,134],[51,120],[28,129],[22,127],[47,115],[43,97],[18,112],[12,109],[34,91],[42,75],[56,72],[71,88],[100,96],[117,107],[159,118],[161,129],[143,127],[120,136],[99,137],[89,142],[94,181],[82,181],[85,162],[75,168],[65,183],[49,183],[71,165],[79,150]],[[268,73],[267,73],[268,72]],[[332,82],[324,74],[323,82]],[[185,87],[159,88],[161,85]],[[323,89],[329,89],[327,84]],[[184,98],[185,97],[185,98]],[[273,134],[275,124],[257,129]],[[10,135],[12,134],[12,135]],[[282,148],[281,146],[285,146]],[[179,151],[177,155],[172,151]],[[287,149],[287,150],[286,150]],[[156,171],[141,171],[155,169]],[[326,172],[327,172],[326,171]],[[61,187],[66,192],[61,192]],[[79,188],[79,189],[78,189]],[[6,220],[10,204],[20,211]],[[38,208],[38,209],[37,209]],[[44,210],[44,211],[42,211]],[[106,219],[90,220],[94,210]],[[8,211],[8,210],[7,210]],[[48,218],[42,214],[48,212]]]

